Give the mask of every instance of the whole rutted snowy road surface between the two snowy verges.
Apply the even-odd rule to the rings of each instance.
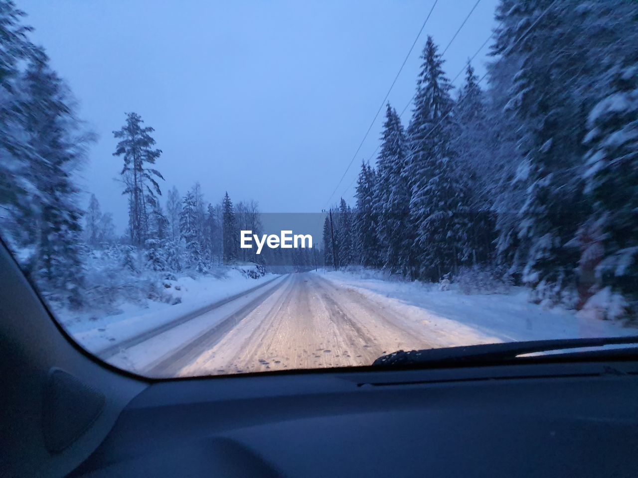
[[[204,324],[202,331],[176,341],[196,321]],[[176,347],[159,342],[170,334],[166,340]],[[108,361],[156,377],[370,365],[399,349],[435,347],[423,334],[349,287],[315,273],[292,273]],[[158,347],[169,351],[148,360]]]

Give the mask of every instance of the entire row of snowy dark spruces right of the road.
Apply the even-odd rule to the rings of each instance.
[[[427,39],[412,117],[387,105],[355,205],[326,219],[325,263],[489,268],[533,301],[635,317],[638,3],[502,0],[496,22],[486,76],[468,62],[456,91]]]

